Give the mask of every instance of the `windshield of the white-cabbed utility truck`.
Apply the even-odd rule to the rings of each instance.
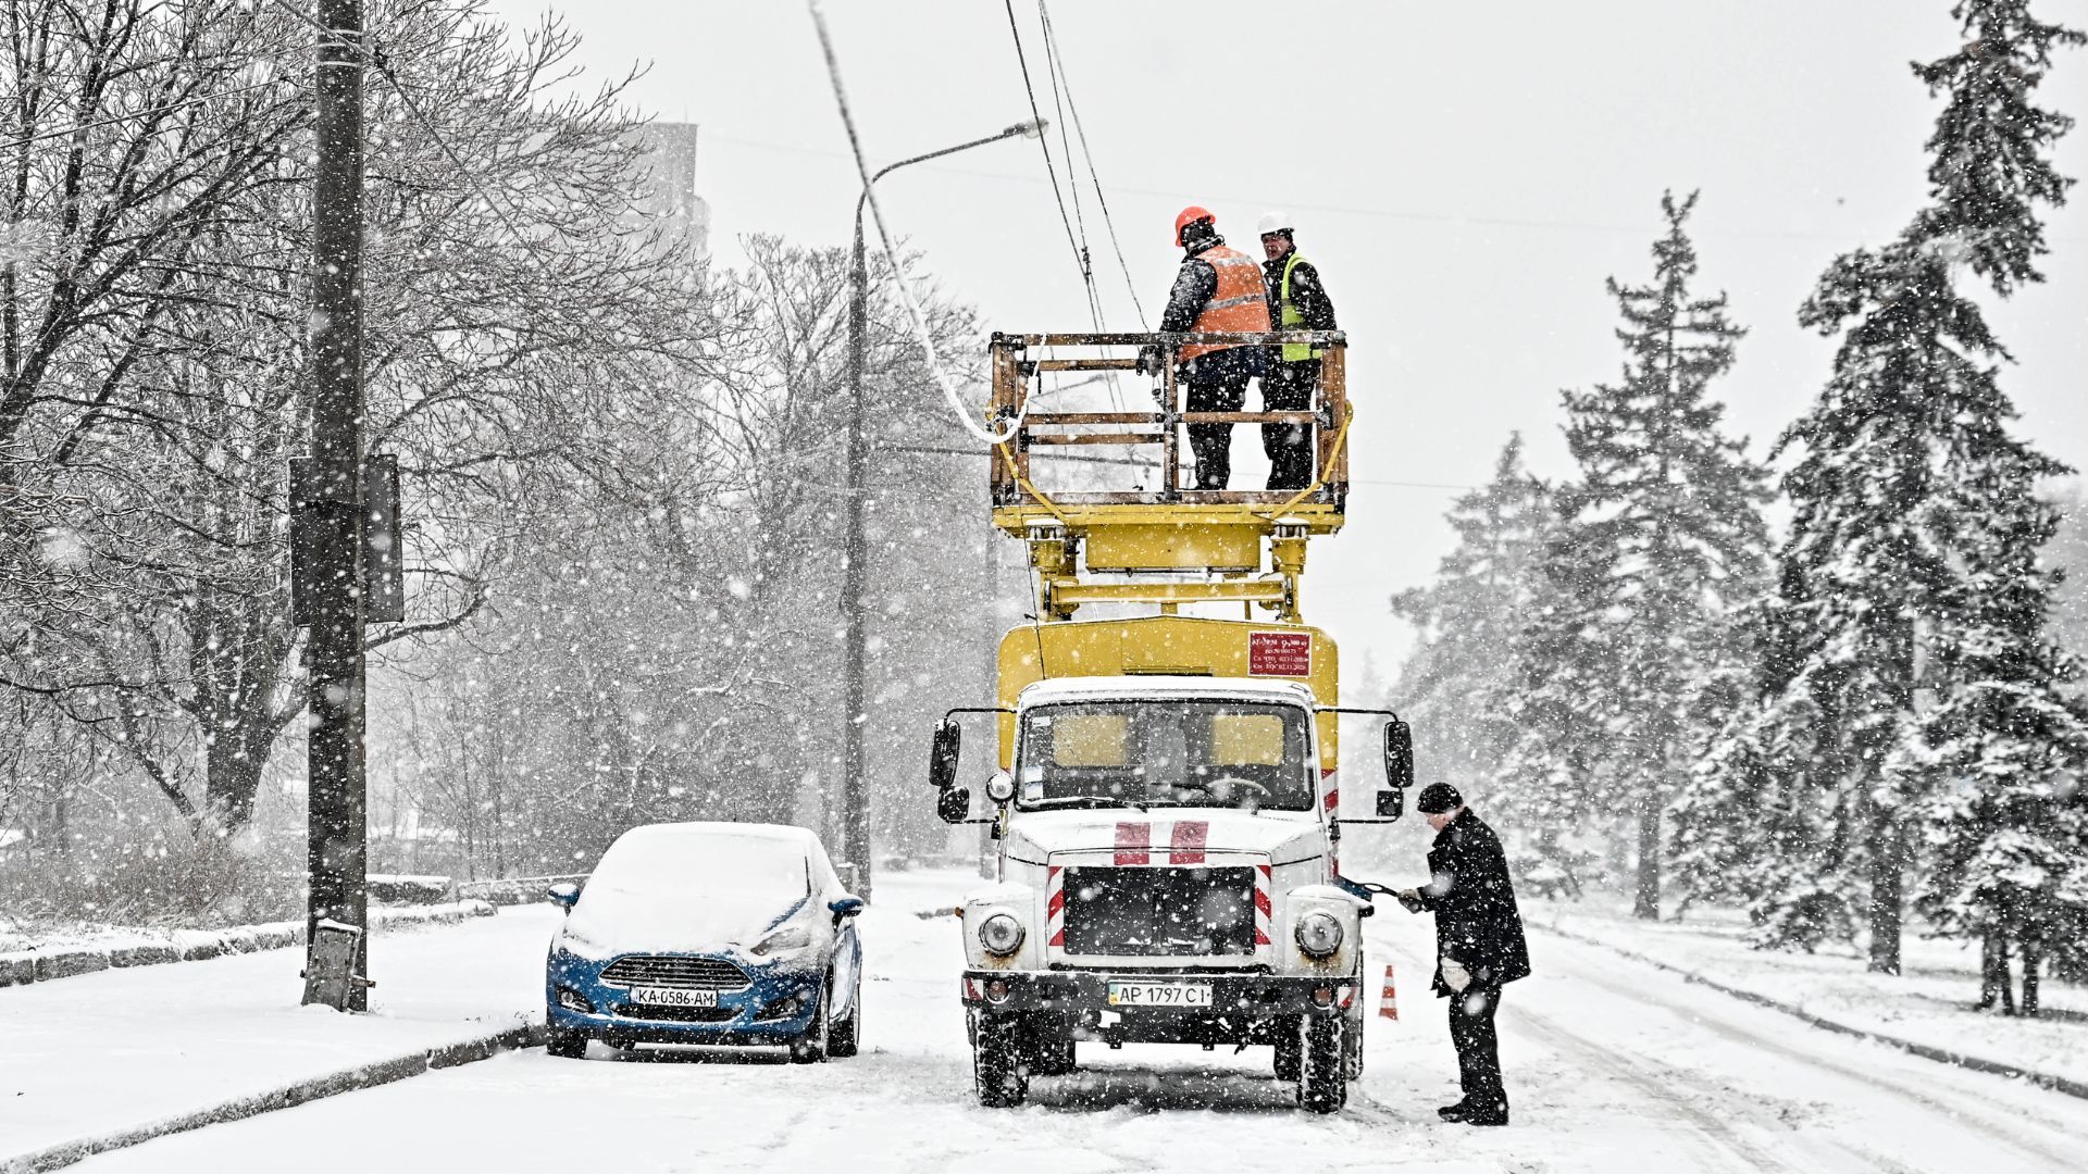
[[[1297,706],[1107,700],[1023,714],[1017,802],[1311,811],[1309,717]]]

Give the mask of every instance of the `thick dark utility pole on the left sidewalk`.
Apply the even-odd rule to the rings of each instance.
[[[305,963],[317,965],[319,921],[357,934],[353,976],[370,973],[363,777],[363,13],[319,0],[317,167],[311,205],[311,689],[307,748]],[[351,978],[349,1011],[367,994]]]

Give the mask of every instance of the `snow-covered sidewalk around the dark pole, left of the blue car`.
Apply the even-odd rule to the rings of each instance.
[[[372,940],[370,1015],[299,1007],[303,950],[0,990],[0,1170],[27,1155],[512,1032],[557,909]]]

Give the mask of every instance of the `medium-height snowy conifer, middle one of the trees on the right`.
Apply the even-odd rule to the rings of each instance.
[[[1528,719],[1520,788],[1631,813],[1635,913],[1660,917],[1662,815],[1695,746],[1700,698],[1735,660],[1733,612],[1760,589],[1764,474],[1721,432],[1708,397],[1743,334],[1727,299],[1698,297],[1685,224],[1695,194],[1662,194],[1654,280],[1608,282],[1624,324],[1616,384],[1568,391],[1579,480],[1560,493],[1543,566],[1551,597],[1518,666]],[[1579,783],[1560,792],[1560,769]]]

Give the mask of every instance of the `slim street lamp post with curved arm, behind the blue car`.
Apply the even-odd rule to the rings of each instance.
[[[1042,119],[1015,123],[1000,134],[900,159],[862,186],[856,196],[856,238],[850,267],[852,297],[848,313],[848,493],[846,493],[846,537],[841,539],[841,854],[856,865],[858,896],[871,896],[871,788],[862,775],[862,725],[869,721],[869,687],[864,671],[864,625],[862,625],[862,579],[869,562],[869,543],[862,537],[862,466],[869,462],[869,445],[862,437],[862,366],[867,341],[871,269],[862,257],[862,205],[871,198],[871,186],[900,167],[986,146],[1017,136],[1040,136],[1050,125]]]

